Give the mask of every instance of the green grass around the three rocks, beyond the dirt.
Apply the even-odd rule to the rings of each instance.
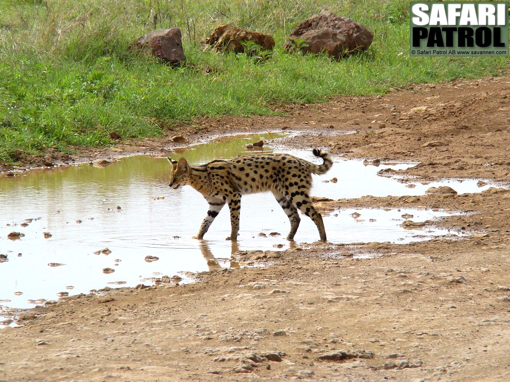
[[[369,50],[337,62],[285,53],[303,19],[329,9],[374,32]],[[279,103],[369,95],[413,83],[508,72],[506,57],[409,57],[409,2],[401,0],[4,0],[0,4],[0,162],[46,148],[157,137],[197,117],[272,114]],[[216,25],[272,34],[265,60],[203,51]],[[137,37],[177,26],[187,64],[129,52]]]

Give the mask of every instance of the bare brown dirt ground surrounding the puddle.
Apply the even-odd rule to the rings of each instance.
[[[400,175],[421,180],[509,182],[509,96],[508,77],[459,80],[278,107],[288,117],[200,120],[197,133],[182,126],[171,134],[197,142],[224,132],[303,130],[287,144],[419,161]],[[146,140],[68,160],[173,146]],[[355,187],[355,179],[344,186]],[[0,381],[510,380],[509,191],[317,206],[470,211],[439,224],[476,234],[241,252],[240,261],[266,255],[267,266],[217,269],[190,285],[63,298],[0,331]]]

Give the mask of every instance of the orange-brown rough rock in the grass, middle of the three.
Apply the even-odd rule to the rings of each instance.
[[[274,47],[274,39],[260,32],[247,31],[231,24],[218,25],[211,36],[202,41],[202,45],[211,45],[219,51],[244,53],[243,42],[252,41],[263,50]]]

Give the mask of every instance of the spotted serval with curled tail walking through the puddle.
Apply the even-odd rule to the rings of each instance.
[[[237,240],[241,195],[271,191],[290,220],[287,239],[294,239],[299,227],[299,209],[313,220],[320,239],[326,241],[322,216],[315,210],[310,199],[312,174],[324,174],[333,165],[329,153],[314,149],[321,157],[322,165],[315,165],[289,154],[259,154],[238,156],[231,160],[216,159],[205,165],[189,166],[186,159],[172,163],[170,187],[177,189],[190,185],[209,202],[209,211],[196,238],[202,239],[221,208],[228,204],[232,232],[227,240]]]

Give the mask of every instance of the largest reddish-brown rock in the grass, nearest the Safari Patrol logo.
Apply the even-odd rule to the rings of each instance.
[[[360,23],[323,10],[301,22],[290,34],[284,49],[290,52],[299,49],[303,53],[325,52],[340,59],[367,50],[373,38],[374,34]]]

